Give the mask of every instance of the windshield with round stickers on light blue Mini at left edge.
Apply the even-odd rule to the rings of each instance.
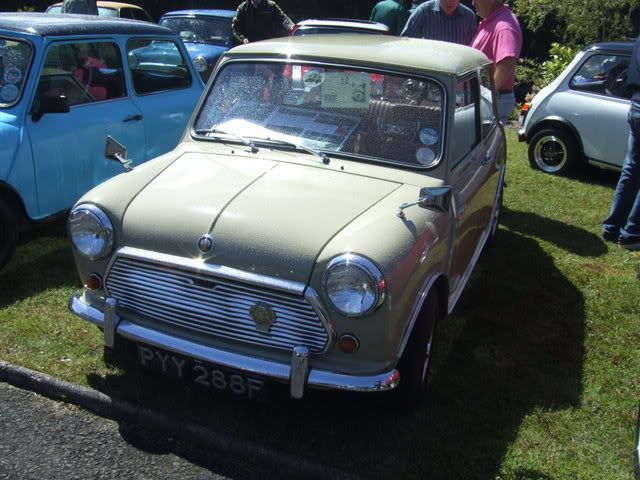
[[[0,37],[0,108],[10,107],[20,99],[31,56],[27,42]]]

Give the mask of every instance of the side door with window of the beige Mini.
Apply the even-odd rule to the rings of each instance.
[[[458,82],[449,141],[449,182],[455,232],[449,264],[453,303],[485,241],[497,192],[495,145],[502,127],[493,107],[491,85],[480,94],[477,74]],[[489,102],[489,103],[487,103]]]

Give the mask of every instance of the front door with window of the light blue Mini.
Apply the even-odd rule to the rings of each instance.
[[[146,160],[141,112],[127,92],[115,41],[48,45],[31,111],[47,97],[61,95],[69,112],[26,119],[42,216],[70,208],[86,191],[123,171],[104,157],[107,135],[127,146],[134,164]]]

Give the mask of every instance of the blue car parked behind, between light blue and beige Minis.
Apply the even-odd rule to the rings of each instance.
[[[235,14],[235,10],[179,10],[162,15],[160,25],[180,35],[206,82],[220,56],[233,47]]]

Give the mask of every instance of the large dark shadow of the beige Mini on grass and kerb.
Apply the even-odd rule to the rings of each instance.
[[[506,212],[507,225],[517,215]],[[503,461],[527,415],[579,404],[584,300],[537,240],[506,228],[495,240],[439,328],[429,395],[416,411],[390,408],[384,394],[310,391],[294,401],[280,386],[241,401],[149,374],[131,351],[107,355],[120,373],[89,383],[364,478],[545,478]]]

